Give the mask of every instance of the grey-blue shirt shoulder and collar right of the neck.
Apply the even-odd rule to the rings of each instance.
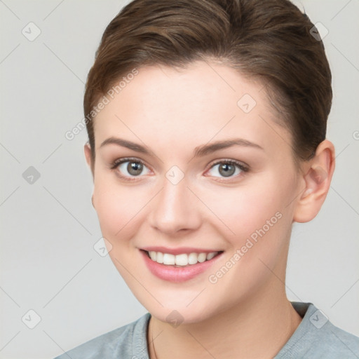
[[[333,325],[325,314],[311,303],[292,302],[303,317],[276,359],[359,358],[359,338]]]

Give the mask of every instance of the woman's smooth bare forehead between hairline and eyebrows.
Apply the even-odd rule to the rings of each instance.
[[[95,118],[97,148],[116,136],[151,142],[163,151],[183,149],[184,144],[192,150],[229,137],[262,147],[289,142],[287,131],[273,121],[263,84],[225,65],[145,67],[117,88],[118,93],[112,92]]]

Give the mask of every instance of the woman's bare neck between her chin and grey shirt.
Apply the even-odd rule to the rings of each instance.
[[[200,323],[174,328],[152,316],[150,358],[273,358],[302,320],[276,282]]]

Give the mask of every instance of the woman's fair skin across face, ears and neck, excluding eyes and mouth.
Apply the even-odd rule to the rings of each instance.
[[[257,104],[246,114],[237,102]],[[93,206],[109,255],[137,299],[151,313],[150,358],[273,358],[298,327],[285,294],[285,268],[293,222],[320,210],[334,171],[334,147],[323,141],[311,161],[295,165],[292,136],[278,125],[263,83],[225,65],[193,62],[186,69],[145,67],[95,118]],[[146,145],[141,154],[109,137]],[[262,149],[233,146],[194,158],[196,147],[241,139]],[[144,161],[140,175],[118,158]],[[224,177],[215,162],[245,163]],[[172,184],[176,165],[184,175]],[[135,180],[126,181],[118,174]],[[217,283],[208,277],[233,257],[276,212],[282,217]],[[217,262],[191,280],[171,283],[151,274],[139,248],[161,245],[223,250]],[[182,323],[167,316],[176,310]],[[156,338],[152,343],[152,337]]]

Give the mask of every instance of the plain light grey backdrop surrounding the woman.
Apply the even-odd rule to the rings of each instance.
[[[101,233],[83,156],[86,131],[65,138],[83,118],[100,36],[127,2],[0,0],[0,358],[53,358],[146,313],[109,257],[93,248]],[[296,4],[329,31],[327,137],[337,168],[318,217],[294,225],[287,294],[359,335],[359,1]],[[41,29],[34,41],[22,34],[29,22]],[[22,177],[29,166],[41,176],[33,184]],[[41,317],[34,329],[30,309]]]

